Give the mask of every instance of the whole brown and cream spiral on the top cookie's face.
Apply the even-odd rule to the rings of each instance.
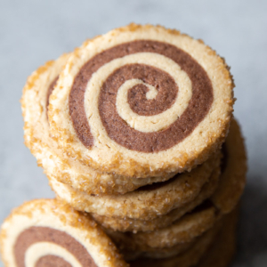
[[[85,63],[69,93],[69,115],[88,149],[94,144],[90,125],[101,124],[119,145],[151,153],[182,142],[206,117],[213,99],[206,71],[190,54],[172,44],[137,40]]]

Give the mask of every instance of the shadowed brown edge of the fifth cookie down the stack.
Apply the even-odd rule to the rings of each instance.
[[[104,231],[120,249],[157,251],[158,248],[179,245],[188,247],[198,236],[212,228],[215,222],[214,206],[206,203],[206,205],[198,207],[190,214],[185,214],[170,226],[156,231],[139,231],[137,233],[112,231],[110,229],[104,229]]]

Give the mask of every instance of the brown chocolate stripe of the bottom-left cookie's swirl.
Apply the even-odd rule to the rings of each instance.
[[[20,233],[20,236],[16,240],[14,246],[14,255],[18,267],[25,266],[25,254],[28,250],[28,247],[38,242],[51,242],[58,246],[64,247],[69,251],[70,254],[77,258],[77,261],[85,267],[97,267],[93,262],[93,258],[88,254],[85,247],[80,244],[76,239],[69,236],[68,233],[64,231],[58,231],[50,227],[30,227],[27,230]],[[44,263],[50,263],[52,260],[53,264],[63,264],[66,263],[61,257],[45,255],[41,257],[36,263],[38,267],[40,266],[53,266],[53,265],[44,265]],[[68,263],[69,264],[69,263]],[[69,266],[67,264],[63,265],[54,265],[54,266]]]

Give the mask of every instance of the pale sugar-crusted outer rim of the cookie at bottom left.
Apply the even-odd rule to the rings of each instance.
[[[81,214],[56,199],[36,199],[15,208],[1,229],[1,253],[5,266],[13,267],[12,249],[16,238],[28,227],[49,227],[61,230],[79,240],[95,263],[104,266],[127,266],[117,247],[88,214]],[[77,235],[78,234],[78,235]],[[97,254],[95,253],[97,251]]]

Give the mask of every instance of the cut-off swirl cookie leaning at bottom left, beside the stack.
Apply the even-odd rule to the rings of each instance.
[[[128,266],[89,216],[54,199],[14,209],[4,221],[1,253],[5,266]]]

